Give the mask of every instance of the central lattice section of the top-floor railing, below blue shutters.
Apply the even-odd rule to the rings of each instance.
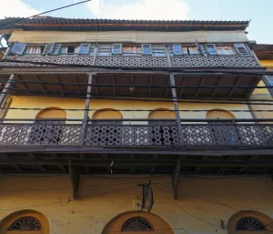
[[[96,66],[167,67],[167,57],[97,56]]]

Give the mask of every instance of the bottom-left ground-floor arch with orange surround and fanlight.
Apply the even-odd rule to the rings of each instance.
[[[49,234],[50,226],[45,215],[35,210],[16,211],[0,222],[2,234]]]

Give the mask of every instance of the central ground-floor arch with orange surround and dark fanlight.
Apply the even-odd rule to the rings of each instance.
[[[165,219],[144,211],[129,211],[110,220],[102,234],[174,234]]]

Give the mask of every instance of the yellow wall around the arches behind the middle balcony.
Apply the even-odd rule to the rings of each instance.
[[[85,108],[85,100],[76,98],[60,98],[60,97],[13,97],[13,101],[10,107],[29,107],[29,108],[48,108],[59,107],[62,109],[67,108]],[[123,109],[144,109],[147,111],[121,111],[123,118],[145,118],[147,119],[150,111],[158,108],[174,109],[173,103],[169,102],[144,102],[144,101],[120,101],[120,100],[91,100],[89,117],[92,118],[95,110],[102,108],[114,108],[117,110]],[[238,104],[207,104],[207,103],[179,103],[179,109],[226,109],[226,110],[248,110],[247,105]],[[35,119],[39,110],[8,110],[6,118],[31,118]],[[111,118],[111,112],[109,118]],[[252,118],[248,112],[234,112],[232,113],[237,118]],[[206,118],[207,112],[180,112],[181,119],[183,118]],[[83,118],[83,111],[66,111],[66,118]]]

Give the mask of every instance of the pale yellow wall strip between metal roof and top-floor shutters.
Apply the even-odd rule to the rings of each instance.
[[[132,43],[203,43],[247,42],[244,31],[195,31],[195,32],[59,32],[14,31],[10,42],[66,43],[66,42],[132,42]]]

